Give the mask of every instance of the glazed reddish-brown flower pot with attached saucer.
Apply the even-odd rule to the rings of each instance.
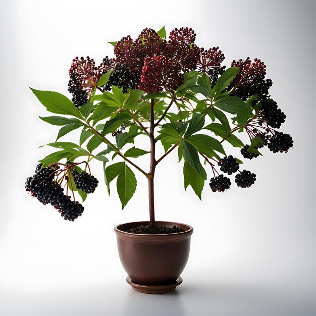
[[[193,228],[189,225],[159,222],[157,225],[182,228],[174,234],[142,235],[126,230],[149,222],[134,222],[117,225],[119,256],[128,277],[126,281],[134,290],[142,293],[160,294],[175,290],[182,283],[180,277],[190,252]]]

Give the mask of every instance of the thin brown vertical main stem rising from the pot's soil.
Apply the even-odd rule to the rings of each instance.
[[[151,99],[151,112],[150,112],[150,170],[148,174],[148,197],[149,197],[149,219],[150,219],[150,226],[151,230],[154,230],[155,226],[155,219],[154,219],[154,192],[153,192],[153,178],[154,178],[154,171],[156,168],[156,160],[155,160],[155,139],[154,139],[154,99]]]

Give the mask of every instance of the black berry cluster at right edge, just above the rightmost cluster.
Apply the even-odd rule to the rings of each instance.
[[[272,128],[280,128],[286,119],[286,115],[278,109],[277,102],[272,99],[262,101],[259,116]]]

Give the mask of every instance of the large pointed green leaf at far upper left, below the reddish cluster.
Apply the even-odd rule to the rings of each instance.
[[[76,109],[75,104],[65,95],[59,92],[30,89],[47,111],[56,114],[72,115],[82,119],[82,115]]]

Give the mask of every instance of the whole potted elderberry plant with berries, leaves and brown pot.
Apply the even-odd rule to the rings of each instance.
[[[98,185],[89,167],[92,159],[103,164],[109,194],[117,179],[122,208],[136,190],[134,171],[147,178],[149,221],[115,227],[127,281],[140,292],[174,290],[189,255],[192,227],[154,217],[154,175],[170,152],[178,150],[185,189],[191,186],[201,199],[207,179],[213,192],[227,191],[232,182],[241,188],[254,184],[255,174],[241,171],[242,162],[227,153],[230,146],[240,147],[250,160],[264,146],[274,153],[293,146],[292,137],[277,130],[286,116],[269,95],[272,81],[265,79],[264,62],[234,60],[225,69],[219,47],[200,48],[195,36],[181,27],[167,40],[165,28],[146,28],[136,40],[126,36],[111,42],[115,57],[99,66],[89,57],[76,57],[69,70],[72,100],[31,89],[49,112],[58,114],[40,119],[61,126],[56,141],[47,144],[57,151],[40,160],[27,178],[32,196],[74,221],[84,210],[75,195],[84,201]],[[79,143],[60,141],[75,129],[81,129]],[[246,132],[248,144],[236,132]],[[149,150],[136,147],[136,137],[146,138]],[[164,148],[161,156],[155,152],[158,145]],[[148,171],[136,163],[142,155],[148,156]],[[224,174],[235,174],[234,181]]]

